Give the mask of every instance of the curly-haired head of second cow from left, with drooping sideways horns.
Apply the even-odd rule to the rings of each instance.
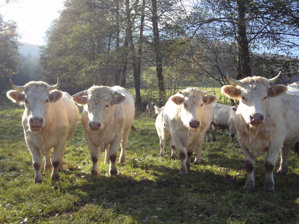
[[[104,129],[114,114],[114,105],[126,100],[125,95],[106,86],[92,86],[71,98],[79,105],[86,105],[88,128],[94,131]]]

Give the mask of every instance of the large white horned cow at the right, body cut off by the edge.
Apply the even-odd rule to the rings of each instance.
[[[285,174],[288,168],[290,145],[299,139],[299,96],[287,93],[285,85],[273,85],[280,76],[272,79],[260,76],[235,80],[228,79],[237,87],[225,85],[221,92],[239,100],[234,117],[239,145],[245,156],[247,179],[244,188],[254,190],[256,158],[267,152],[264,166],[264,189],[274,191],[273,170],[281,151],[281,163],[277,173]]]

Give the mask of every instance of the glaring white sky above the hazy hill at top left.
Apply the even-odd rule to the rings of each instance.
[[[59,17],[64,0],[16,0],[4,4],[0,0],[0,13],[4,21],[13,20],[18,25],[19,42],[44,45],[45,31]]]

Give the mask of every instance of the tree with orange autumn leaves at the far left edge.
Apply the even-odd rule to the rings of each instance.
[[[4,21],[0,14],[0,93],[4,84],[16,73],[18,55],[18,33],[15,22]]]

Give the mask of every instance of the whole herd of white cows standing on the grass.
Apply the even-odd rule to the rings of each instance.
[[[222,86],[221,92],[238,100],[237,107],[219,104],[217,96],[207,95],[212,90],[199,88],[186,88],[171,96],[164,107],[155,106],[160,156],[164,156],[165,141],[170,138],[173,157],[176,156],[175,148],[178,149],[179,174],[188,174],[195,147],[194,164],[201,162],[202,146],[205,137],[210,140],[210,129],[213,141],[216,141],[217,127],[222,131],[229,129],[231,142],[237,132],[238,143],[245,156],[247,178],[244,188],[248,193],[254,190],[256,158],[266,152],[264,189],[273,191],[273,170],[279,153],[281,161],[277,172],[285,174],[290,146],[295,144],[297,154],[299,151],[299,88],[296,83],[270,86],[280,74],[272,79],[254,76],[235,80],[228,76],[236,86]],[[131,129],[137,132],[133,126],[134,99],[129,91],[120,86],[92,86],[70,96],[57,90],[58,78],[57,84],[52,86],[45,82],[16,86],[11,80],[10,85],[14,90],[8,91],[7,97],[25,105],[22,125],[35,169],[34,182],[42,182],[42,155],[45,157],[44,169],[52,167],[51,179],[59,178],[65,142],[73,136],[79,120],[76,104],[84,106],[81,124],[91,152],[91,174],[99,173],[100,152],[105,151],[105,162],[110,161],[109,176],[117,175],[115,161],[119,146],[119,163],[123,163],[129,132]]]

